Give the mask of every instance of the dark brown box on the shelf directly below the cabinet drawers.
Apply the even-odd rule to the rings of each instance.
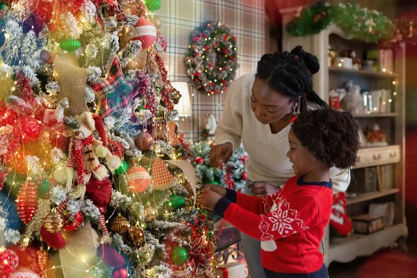
[[[370,193],[377,191],[377,188],[377,167],[366,167],[352,172],[352,180],[347,190],[352,193]]]

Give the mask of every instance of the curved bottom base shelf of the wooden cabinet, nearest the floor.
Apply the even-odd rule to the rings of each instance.
[[[358,256],[370,256],[383,247],[389,247],[401,236],[407,235],[407,226],[401,223],[386,227],[374,234],[352,234],[345,238],[333,238],[327,254],[325,253],[325,264],[328,266],[331,261],[347,263]]]

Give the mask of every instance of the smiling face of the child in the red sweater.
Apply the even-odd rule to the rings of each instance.
[[[322,167],[322,162],[318,161],[306,147],[301,145],[300,140],[295,137],[293,129],[288,133],[288,141],[290,142],[290,150],[287,152],[287,157],[293,163],[294,174],[305,176]]]

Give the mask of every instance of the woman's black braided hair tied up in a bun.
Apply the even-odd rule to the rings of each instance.
[[[301,96],[300,111],[304,112],[307,110],[306,101],[314,102],[321,108],[328,107],[313,91],[312,75],[319,69],[318,58],[297,46],[291,53],[284,51],[263,55],[258,62],[256,78],[291,99]]]

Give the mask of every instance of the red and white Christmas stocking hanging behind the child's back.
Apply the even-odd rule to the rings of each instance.
[[[346,213],[346,195],[343,192],[333,195],[330,225],[342,236],[347,236],[352,229],[352,223]]]

